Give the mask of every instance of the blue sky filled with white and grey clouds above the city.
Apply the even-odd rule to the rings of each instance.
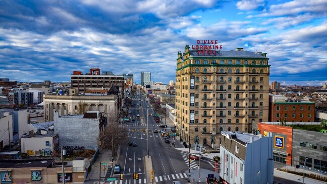
[[[196,40],[267,52],[270,81],[327,83],[327,1],[0,1],[0,77],[70,81],[74,70],[175,80]]]

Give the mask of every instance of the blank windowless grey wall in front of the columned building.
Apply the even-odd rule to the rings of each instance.
[[[56,113],[57,114],[57,113]],[[59,134],[60,146],[98,145],[99,119],[83,118],[83,115],[54,116],[55,134]]]

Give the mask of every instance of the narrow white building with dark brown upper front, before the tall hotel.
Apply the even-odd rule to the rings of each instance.
[[[228,183],[273,183],[273,139],[246,133],[222,132],[220,177]]]

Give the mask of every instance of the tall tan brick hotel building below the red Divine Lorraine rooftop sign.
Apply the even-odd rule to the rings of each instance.
[[[193,47],[193,46],[192,46]],[[236,50],[178,52],[176,123],[191,144],[218,146],[222,131],[252,133],[268,121],[270,65],[267,53]]]

